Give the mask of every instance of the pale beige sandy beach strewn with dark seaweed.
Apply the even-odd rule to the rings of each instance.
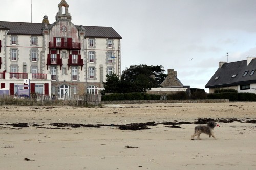
[[[163,124],[198,118],[217,120],[217,140],[191,140],[195,124]],[[221,122],[227,119],[237,121]],[[0,169],[256,169],[255,120],[256,103],[0,106]],[[145,130],[115,126],[153,121]]]

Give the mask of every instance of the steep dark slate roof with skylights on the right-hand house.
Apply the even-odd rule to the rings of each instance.
[[[247,65],[247,60],[225,63],[215,72],[205,88],[256,83],[256,71],[252,76],[249,76],[252,70],[256,70],[256,59],[252,59],[249,65]],[[245,71],[248,71],[248,74],[243,77]],[[233,75],[236,75],[236,77],[232,77]],[[219,78],[216,79],[217,77]]]

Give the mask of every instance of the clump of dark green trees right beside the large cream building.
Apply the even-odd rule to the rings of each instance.
[[[152,87],[160,87],[167,77],[163,66],[131,65],[122,72],[121,79],[115,74],[106,76],[103,82],[106,93],[146,92]]]

